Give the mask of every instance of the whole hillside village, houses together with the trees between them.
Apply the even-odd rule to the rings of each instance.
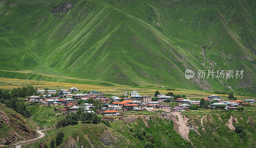
[[[23,99],[28,102],[38,102],[40,105],[64,106],[60,113],[76,112],[83,108],[84,112],[102,114],[103,116],[122,116],[127,111],[164,111],[181,112],[197,109],[202,103],[208,109],[239,109],[256,102],[253,99],[225,101],[219,95],[210,95],[202,100],[189,100],[189,98],[175,98],[173,96],[157,94],[142,96],[138,92],[125,92],[123,96],[106,97],[101,91],[81,93],[77,88],[56,90],[37,90],[41,96],[30,96]],[[104,96],[105,95],[105,96]],[[97,103],[96,103],[97,102]],[[94,104],[97,104],[94,105]]]

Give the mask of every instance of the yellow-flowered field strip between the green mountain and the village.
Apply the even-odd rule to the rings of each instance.
[[[1,85],[4,84],[4,85]],[[173,92],[174,94],[185,94],[188,98],[207,98],[209,95],[213,95],[213,92],[209,91],[196,91],[196,90],[166,90],[163,88],[136,88],[136,87],[122,87],[122,86],[103,86],[103,85],[89,85],[89,84],[74,84],[74,83],[63,83],[63,82],[49,82],[49,81],[36,81],[36,80],[20,80],[20,79],[11,79],[11,78],[0,78],[0,88],[2,89],[12,89],[18,87],[26,87],[32,85],[37,87],[38,90],[49,88],[49,89],[69,89],[71,87],[76,87],[81,91],[90,91],[97,90],[102,91],[105,94],[110,95],[124,95],[124,92],[137,91],[140,95],[151,95],[153,96],[156,90],[161,94],[166,94],[168,92]],[[215,94],[218,95],[218,94]],[[243,96],[244,95],[244,96]],[[228,95],[220,95],[221,98],[227,98]],[[245,98],[255,98],[255,95],[246,95],[246,94],[235,94],[239,99]]]

